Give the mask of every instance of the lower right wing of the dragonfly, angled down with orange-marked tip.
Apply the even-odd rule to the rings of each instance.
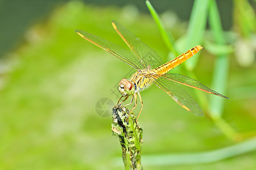
[[[180,87],[176,82],[172,82],[169,79],[166,79],[162,75],[147,75],[156,86],[161,88],[164,92],[166,92],[169,96],[172,97],[181,107],[186,109],[189,112],[192,112],[198,116],[203,116],[203,111],[196,103],[196,101]]]

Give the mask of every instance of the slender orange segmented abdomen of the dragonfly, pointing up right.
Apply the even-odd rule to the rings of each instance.
[[[197,45],[194,48],[188,50],[187,52],[181,54],[180,56],[165,63],[164,65],[157,67],[153,71],[157,74],[166,74],[168,71],[174,69],[176,66],[180,65],[184,61],[187,61],[188,58],[191,58],[192,56],[194,56],[201,49],[203,49],[203,47],[201,45]]]

